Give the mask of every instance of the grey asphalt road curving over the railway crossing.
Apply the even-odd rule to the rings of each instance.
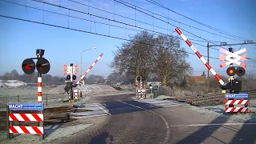
[[[209,117],[184,106],[161,107],[132,100],[133,95],[93,98],[111,114],[90,129],[60,143],[256,143],[256,123],[229,122],[228,118]],[[58,143],[58,142],[56,142]]]

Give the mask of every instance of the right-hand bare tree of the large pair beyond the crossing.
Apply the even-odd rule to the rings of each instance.
[[[157,47],[155,48],[154,70],[163,86],[166,86],[167,83],[176,82],[178,79],[184,78],[186,74],[191,73],[190,63],[186,62],[188,54],[180,46],[178,38],[159,35],[155,45]]]

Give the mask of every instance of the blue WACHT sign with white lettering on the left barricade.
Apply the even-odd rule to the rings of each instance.
[[[9,110],[43,110],[43,103],[8,102]]]

